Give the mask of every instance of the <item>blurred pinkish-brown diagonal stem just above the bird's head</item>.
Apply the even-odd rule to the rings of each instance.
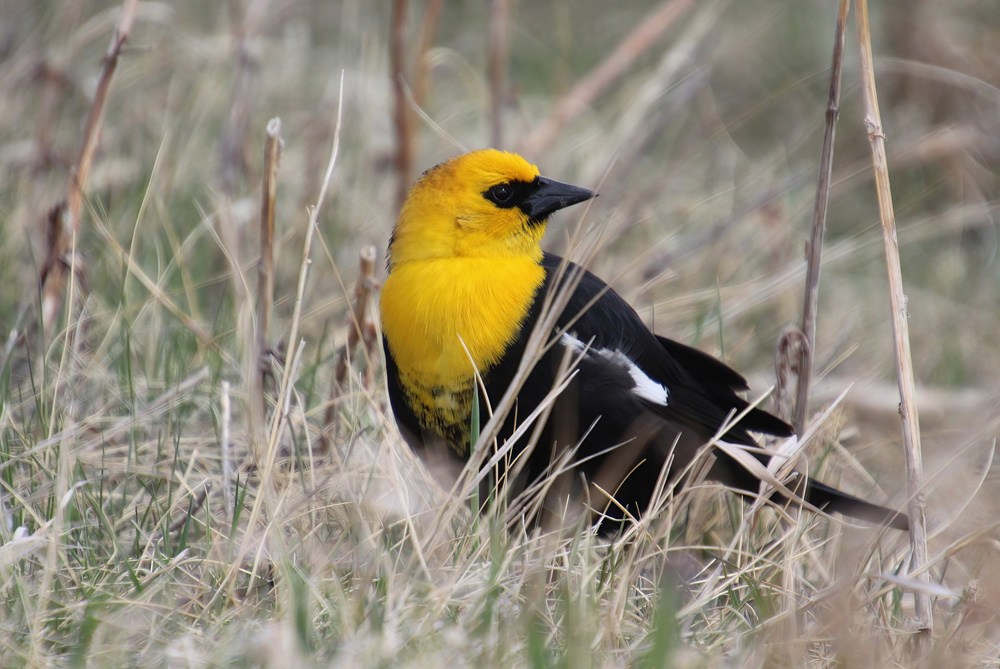
[[[674,21],[692,7],[691,0],[664,0],[625,36],[618,46],[576,82],[548,117],[535,128],[521,148],[528,157],[538,156],[559,134],[563,126],[580,115],[605,89],[628,71],[629,65],[653,45]]]

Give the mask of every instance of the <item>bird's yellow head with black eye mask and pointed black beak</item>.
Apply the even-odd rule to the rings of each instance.
[[[546,179],[524,158],[472,151],[431,168],[399,213],[389,267],[453,257],[542,257],[538,243],[552,212],[593,193]]]

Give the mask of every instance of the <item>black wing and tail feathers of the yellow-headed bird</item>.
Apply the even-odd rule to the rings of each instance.
[[[565,261],[546,254],[543,265],[547,270],[546,288],[552,290],[558,268]],[[675,471],[685,466],[695,450],[710,439],[720,426],[735,412],[747,408],[747,402],[736,394],[746,390],[747,382],[737,372],[716,358],[697,349],[665,337],[654,335],[632,307],[601,279],[573,263],[565,263],[564,277],[579,275],[569,304],[558,323],[567,332],[573,332],[578,341],[590,342],[591,349],[619,351],[637,365],[646,376],[662,384],[667,391],[665,406],[656,402],[636,399],[631,379],[622,374],[621,360],[608,355],[588,355],[580,366],[579,411],[581,414],[600,414],[611,407],[611,420],[605,426],[623,429],[636,435],[633,451],[642,449],[633,460],[628,455],[628,444],[623,451],[627,467],[634,469],[626,474],[616,497],[627,508],[640,511],[648,503],[655,486],[659,469],[664,463],[664,450],[673,452]],[[562,281],[565,281],[563,278]],[[537,300],[540,302],[540,300]],[[603,359],[602,359],[603,357]],[[611,388],[595,374],[614,375],[617,370],[618,388]],[[622,392],[621,387],[629,389]],[[641,405],[642,409],[636,406]],[[659,432],[644,437],[636,426],[644,424],[643,415],[653,413],[662,423],[653,428]],[[624,419],[623,419],[624,417]],[[602,416],[601,420],[608,418]],[[631,422],[630,422],[631,421]],[[614,429],[610,432],[613,434]],[[750,432],[763,432],[781,437],[791,436],[792,427],[761,409],[751,409],[746,416],[723,437],[727,441],[754,445]],[[605,445],[608,442],[605,442]],[[584,449],[592,452],[593,449]],[[709,477],[730,486],[756,490],[757,480],[741,465],[717,453]],[[617,455],[615,457],[618,457]],[[766,456],[757,456],[766,462]],[[608,458],[609,460],[613,458]],[[627,467],[618,467],[623,472]],[[585,468],[587,469],[587,468]],[[590,467],[591,473],[596,467]],[[601,468],[608,469],[607,466]],[[601,469],[597,471],[600,475]],[[807,501],[829,511],[844,513],[855,518],[877,522],[896,529],[908,529],[909,519],[886,507],[871,504],[857,497],[827,486],[819,481],[808,482],[802,493]]]

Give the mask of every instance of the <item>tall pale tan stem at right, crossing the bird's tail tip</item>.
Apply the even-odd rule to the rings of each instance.
[[[909,492],[910,548],[913,553],[911,573],[921,582],[928,582],[927,519],[923,484],[923,460],[920,452],[920,424],[914,400],[915,381],[913,361],[910,358],[910,334],[907,325],[906,295],[903,293],[903,276],[899,267],[899,242],[896,239],[896,218],[892,208],[892,191],[889,188],[889,170],[885,157],[885,131],[878,108],[878,91],[875,87],[875,65],[872,58],[871,29],[868,24],[868,1],[856,0],[856,21],[861,49],[861,75],[864,80],[865,127],[872,148],[875,168],[875,187],[878,191],[879,217],[885,242],[886,264],[889,270],[889,301],[892,306],[892,338],[896,358],[896,379],[899,383],[899,413],[903,422],[903,449]],[[926,590],[914,592],[915,613],[921,636],[929,637],[933,631],[930,595]]]

